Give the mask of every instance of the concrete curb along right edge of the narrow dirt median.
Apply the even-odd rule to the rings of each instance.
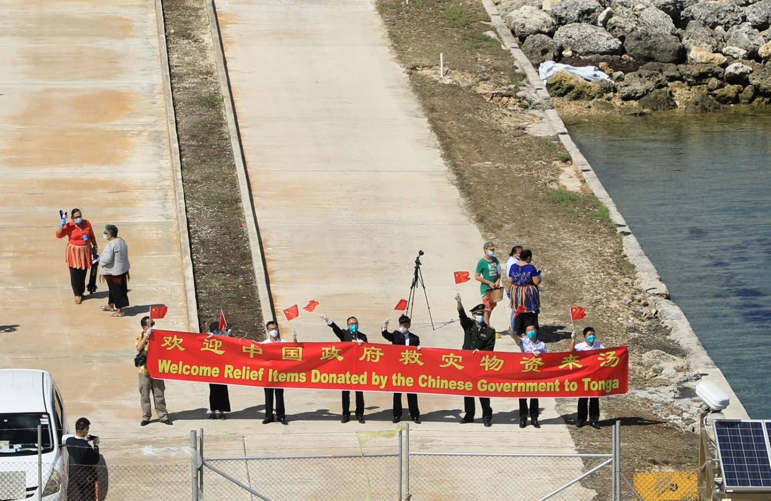
[[[214,0],[207,0],[206,10],[209,18],[211,38],[212,42],[214,42],[214,59],[217,60],[217,74],[220,78],[220,86],[225,106],[225,117],[227,118],[227,130],[231,137],[233,159],[236,164],[236,172],[238,175],[238,187],[241,192],[241,206],[244,208],[244,218],[246,218],[249,248],[251,249],[251,263],[254,268],[254,279],[257,282],[262,318],[267,322],[268,320],[275,320],[275,306],[273,303],[273,296],[271,295],[268,264],[265,262],[257,212],[254,209],[254,199],[251,195],[251,183],[249,182],[246,170],[244,146],[241,144],[241,134],[238,130],[238,119],[236,117],[233,93],[231,92],[231,80],[227,76],[227,61],[225,61],[224,45],[222,42],[220,25],[217,20],[217,8],[214,5]]]

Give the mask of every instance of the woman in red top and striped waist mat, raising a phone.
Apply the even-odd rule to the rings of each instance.
[[[91,223],[83,219],[79,208],[70,212],[72,221],[62,218],[62,225],[56,230],[56,238],[69,238],[64,256],[69,266],[69,283],[75,295],[75,303],[80,304],[86,293],[86,274],[91,267],[91,257],[96,254],[96,237]]]

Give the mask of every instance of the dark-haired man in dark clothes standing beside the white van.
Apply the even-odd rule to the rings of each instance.
[[[69,452],[69,499],[96,501],[96,464],[99,463],[99,437],[91,437],[86,418],[75,422],[75,436],[67,438]],[[89,444],[93,440],[93,447]]]

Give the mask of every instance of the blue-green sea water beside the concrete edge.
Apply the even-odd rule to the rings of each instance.
[[[771,418],[771,113],[567,126],[752,418]]]

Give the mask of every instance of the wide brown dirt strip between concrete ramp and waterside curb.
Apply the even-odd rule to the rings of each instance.
[[[482,3],[379,0],[377,5],[473,221],[499,245],[502,261],[511,246],[524,245],[542,269],[541,337],[549,349],[567,350],[569,307],[584,306],[588,316],[576,324],[579,332],[591,325],[606,346],[629,345],[633,391],[672,384],[653,361],[682,360],[684,353],[665,339],[668,332],[655,314],[641,313],[647,300],[634,285],[634,269],[607,209],[583,183],[577,192],[561,187],[560,174],[573,171],[569,155],[556,138],[524,132],[533,117],[515,95],[521,76],[513,73],[508,52],[483,35],[492,28]],[[558,404],[569,424],[575,422],[575,406],[574,399]],[[608,425],[619,419],[630,478],[631,472],[695,469],[698,436],[662,418],[682,410],[631,393],[603,398],[601,412],[602,430],[571,427],[581,452],[607,452]]]

